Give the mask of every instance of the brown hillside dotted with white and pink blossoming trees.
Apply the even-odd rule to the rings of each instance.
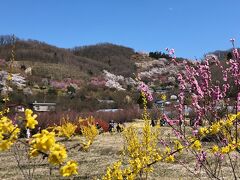
[[[7,70],[12,45],[10,38],[4,38],[0,37],[0,59],[1,69]],[[14,73],[23,84],[19,87],[15,82],[17,91],[11,98],[14,104],[57,102],[61,110],[126,108],[139,98],[136,75],[153,89],[169,86],[175,91],[176,75],[182,70],[169,59],[110,43],[64,49],[17,39]]]

